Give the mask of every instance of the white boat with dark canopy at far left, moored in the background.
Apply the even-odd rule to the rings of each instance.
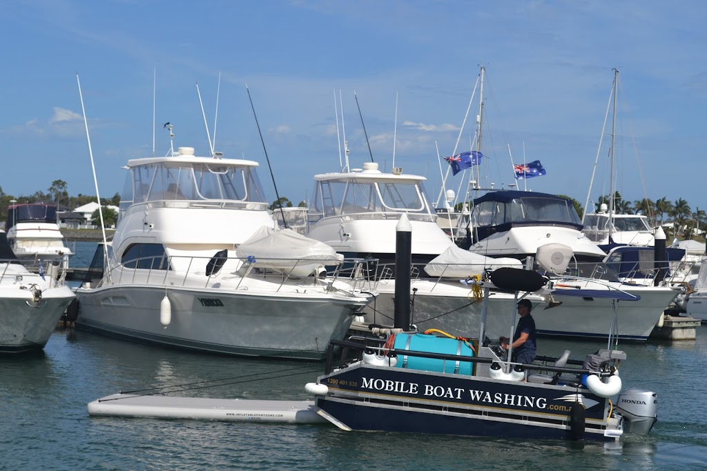
[[[74,252],[64,244],[57,225],[57,206],[46,203],[11,204],[8,206],[5,231],[17,258],[33,261],[64,262]]]

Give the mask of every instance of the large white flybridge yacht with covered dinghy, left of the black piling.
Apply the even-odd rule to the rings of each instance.
[[[342,257],[274,231],[257,162],[129,160],[112,242],[76,290],[76,324],[201,352],[321,359],[373,294],[327,277]]]

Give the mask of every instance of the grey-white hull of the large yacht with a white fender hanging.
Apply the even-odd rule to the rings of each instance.
[[[329,340],[343,338],[356,309],[370,301],[146,285],[76,294],[78,328],[199,352],[296,359],[324,358]],[[171,305],[167,327],[160,323],[165,294]]]

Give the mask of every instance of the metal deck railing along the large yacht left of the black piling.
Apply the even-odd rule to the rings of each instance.
[[[276,291],[288,284],[288,282],[312,282],[312,287],[320,287],[322,290],[337,290],[348,292],[343,287],[334,286],[334,282],[339,279],[345,280],[351,287],[351,293],[363,289],[365,283],[363,278],[364,270],[359,268],[363,259],[340,258],[239,258],[239,257],[216,257],[216,256],[145,256],[132,258],[124,261],[118,266],[112,266],[98,282],[97,287],[112,284],[148,284],[163,285],[165,287],[214,287],[221,285],[224,281],[233,280],[234,290],[247,289],[243,286],[243,280],[253,278],[277,282],[279,287]],[[332,271],[320,270],[320,267],[336,266],[348,264],[353,266],[354,273],[361,273],[358,276],[342,275],[339,267]],[[308,271],[308,275],[303,276],[303,270]],[[301,270],[300,270],[301,269]],[[207,275],[207,272],[210,274]],[[204,277],[203,285],[199,278]],[[304,281],[307,280],[307,281]]]

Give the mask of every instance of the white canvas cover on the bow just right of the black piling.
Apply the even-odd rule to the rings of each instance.
[[[467,276],[481,275],[484,270],[496,270],[503,267],[523,268],[520,260],[515,258],[485,257],[452,245],[433,258],[425,266],[425,271],[433,277],[466,278]]]

